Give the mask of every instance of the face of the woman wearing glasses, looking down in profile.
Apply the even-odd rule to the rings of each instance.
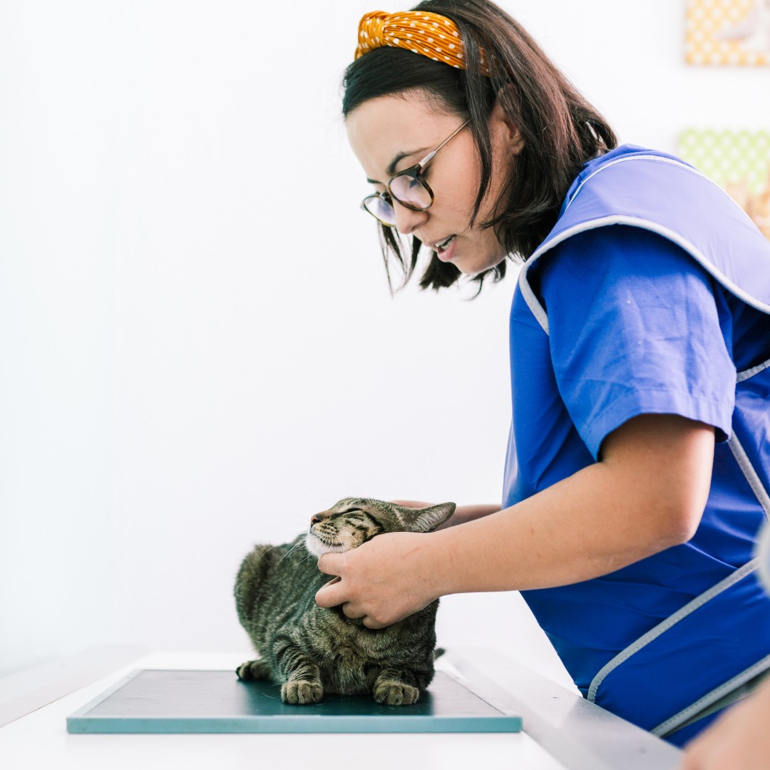
[[[462,124],[457,115],[438,112],[420,91],[370,99],[346,119],[350,146],[378,192],[385,190],[394,174],[420,162]],[[470,217],[480,184],[480,162],[470,129],[460,131],[425,166],[423,177],[434,192],[430,209],[412,211],[393,201],[398,232],[416,236],[439,259],[467,275],[494,267],[506,256],[494,229],[482,228],[480,223],[494,212],[518,152],[518,134],[499,105],[489,126],[492,177],[473,227]],[[447,244],[451,236],[454,239]]]

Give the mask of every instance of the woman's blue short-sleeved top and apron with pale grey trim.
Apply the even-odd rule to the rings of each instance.
[[[591,162],[521,271],[511,387],[504,507],[599,460],[632,417],[715,427],[691,541],[522,592],[584,695],[681,745],[770,668],[752,561],[770,515],[770,243],[678,159],[624,146]]]

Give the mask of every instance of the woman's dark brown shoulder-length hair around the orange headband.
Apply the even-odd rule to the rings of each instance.
[[[480,184],[471,224],[478,216],[490,181],[492,152],[488,121],[495,100],[511,118],[524,141],[512,164],[493,219],[497,239],[514,259],[526,260],[554,226],[562,200],[584,163],[614,148],[617,139],[604,118],[556,68],[536,42],[511,16],[487,0],[426,0],[413,10],[450,18],[460,31],[467,69],[456,69],[427,56],[383,47],[356,59],[343,79],[343,115],[369,99],[422,90],[437,107],[470,119],[480,160]],[[481,72],[481,51],[490,76]],[[392,253],[407,283],[417,265],[422,243],[412,238],[411,256],[403,258],[392,227],[380,228],[383,259],[390,282]],[[505,275],[505,261],[474,276],[479,290],[491,276]],[[420,287],[451,286],[460,271],[434,254]],[[392,287],[392,282],[391,282]]]

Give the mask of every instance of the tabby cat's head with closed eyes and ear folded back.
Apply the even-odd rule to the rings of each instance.
[[[350,551],[383,532],[430,532],[454,514],[454,503],[405,508],[384,500],[345,497],[310,519],[305,547],[319,557]]]

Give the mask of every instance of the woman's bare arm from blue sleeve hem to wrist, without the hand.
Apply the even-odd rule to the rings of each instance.
[[[514,507],[426,538],[438,595],[548,588],[608,574],[695,532],[711,479],[711,428],[659,416],[630,444]]]

